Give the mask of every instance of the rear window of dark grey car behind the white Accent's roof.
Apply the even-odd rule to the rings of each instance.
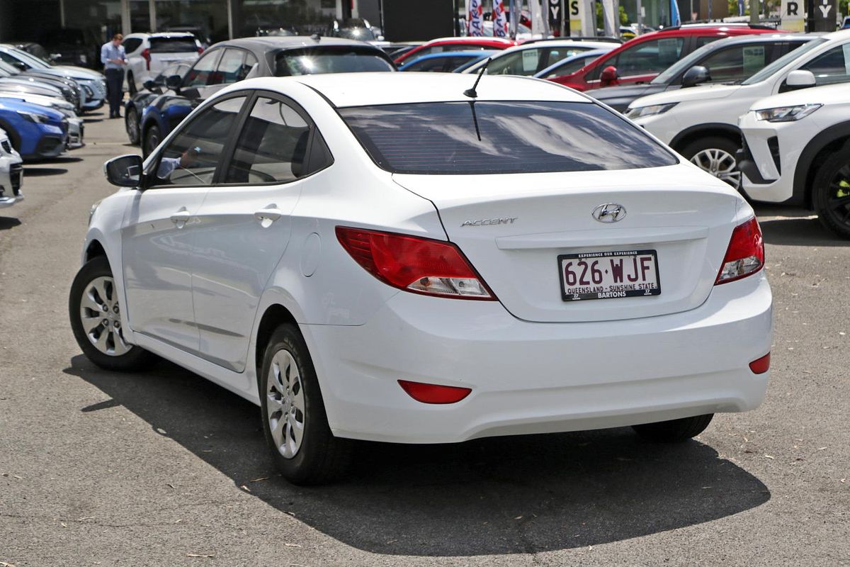
[[[394,67],[374,49],[349,46],[295,49],[275,57],[275,77],[363,71],[394,71]]]

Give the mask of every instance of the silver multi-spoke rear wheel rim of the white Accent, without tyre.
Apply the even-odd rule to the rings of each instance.
[[[286,349],[272,358],[266,381],[266,415],[275,447],[291,459],[297,455],[304,438],[304,391],[295,359]]]

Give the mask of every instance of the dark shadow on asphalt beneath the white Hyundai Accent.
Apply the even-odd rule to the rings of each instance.
[[[701,524],[760,506],[762,482],[698,441],[643,442],[629,428],[478,439],[358,443],[348,476],[302,488],[275,472],[255,405],[160,362],[65,372],[123,405],[239,490],[338,541],[389,555],[471,556],[587,547]]]

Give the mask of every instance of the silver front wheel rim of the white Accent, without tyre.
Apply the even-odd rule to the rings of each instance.
[[[99,352],[121,356],[130,349],[124,342],[121,308],[111,277],[100,276],[85,287],[80,298],[80,321],[89,342]]]

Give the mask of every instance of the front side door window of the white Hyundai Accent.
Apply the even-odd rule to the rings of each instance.
[[[160,154],[155,185],[211,184],[218,159],[245,97],[207,107],[185,124]]]

